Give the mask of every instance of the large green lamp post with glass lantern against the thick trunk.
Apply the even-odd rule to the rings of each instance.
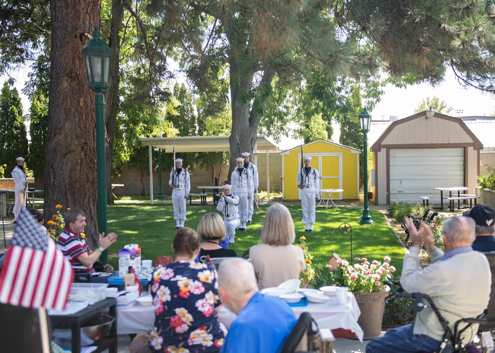
[[[101,39],[98,28],[81,50],[88,75],[88,87],[95,91],[96,109],[96,158],[98,175],[98,232],[106,231],[106,162],[105,162],[105,98],[103,92],[110,87],[110,64],[113,50]],[[100,256],[108,263],[107,251]]]

